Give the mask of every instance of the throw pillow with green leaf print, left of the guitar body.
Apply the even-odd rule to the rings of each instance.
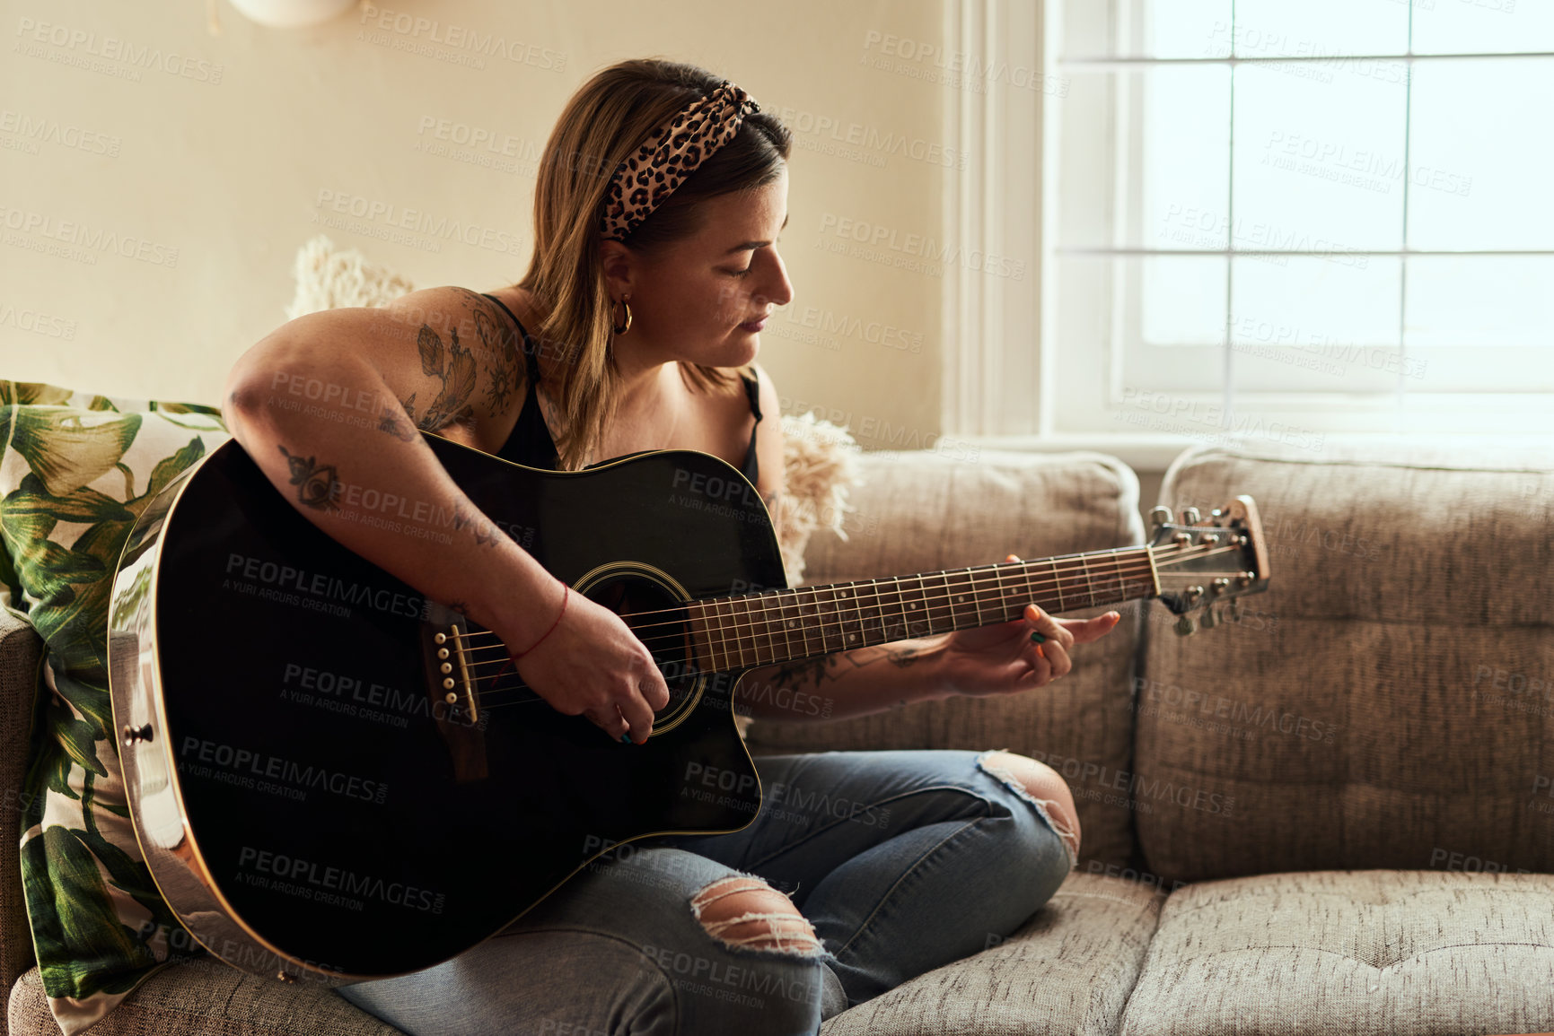
[[[22,831],[37,966],[65,1036],[186,940],[129,822],[107,685],[107,604],[135,519],[228,438],[214,407],[0,382],[0,604],[44,638]]]

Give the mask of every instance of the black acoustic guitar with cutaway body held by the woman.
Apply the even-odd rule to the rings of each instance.
[[[746,826],[761,791],[733,693],[754,668],[1009,621],[1030,601],[1159,598],[1214,624],[1270,576],[1240,495],[1207,520],[1158,508],[1139,547],[788,589],[766,508],[716,457],[555,472],[426,441],[480,511],[622,617],[670,702],[642,746],[558,713],[494,634],[323,534],[224,443],[132,530],[109,669],[151,873],[190,937],[244,971],[429,968],[622,842]],[[406,536],[457,531],[368,497],[357,513]]]

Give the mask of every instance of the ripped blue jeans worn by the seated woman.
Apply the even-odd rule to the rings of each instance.
[[[743,831],[615,847],[502,935],[336,993],[412,1036],[816,1033],[1012,933],[1074,868],[1047,803],[985,755],[758,756]],[[701,907],[740,876],[786,893],[821,944],[709,930]]]

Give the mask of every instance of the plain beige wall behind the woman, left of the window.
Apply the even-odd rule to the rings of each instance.
[[[292,258],[319,231],[418,286],[511,283],[533,241],[533,160],[566,98],[614,61],[656,54],[727,76],[796,130],[782,253],[797,297],[760,354],[788,408],[822,407],[866,444],[890,444],[872,430],[931,444],[942,278],[889,261],[909,235],[942,238],[943,180],[974,157],[967,172],[943,165],[949,87],[867,59],[889,36],[940,39],[940,3],[378,9],[270,30],[219,0],[213,34],[197,0],[6,0],[0,376],[214,402],[233,359],[284,322]],[[500,37],[508,56],[434,42],[452,26]],[[485,67],[460,64],[471,57]],[[437,140],[444,120],[460,137],[488,132],[496,151]],[[320,197],[392,216],[353,219]],[[378,236],[407,210],[412,224],[457,221],[476,244]],[[844,221],[894,235],[886,261],[817,247],[839,242]]]

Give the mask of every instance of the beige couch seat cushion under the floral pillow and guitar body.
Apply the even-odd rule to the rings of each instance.
[[[402,1036],[319,983],[281,985],[208,957],[163,968],[92,1036]],[[59,1036],[37,968],[11,989],[11,1036]]]

